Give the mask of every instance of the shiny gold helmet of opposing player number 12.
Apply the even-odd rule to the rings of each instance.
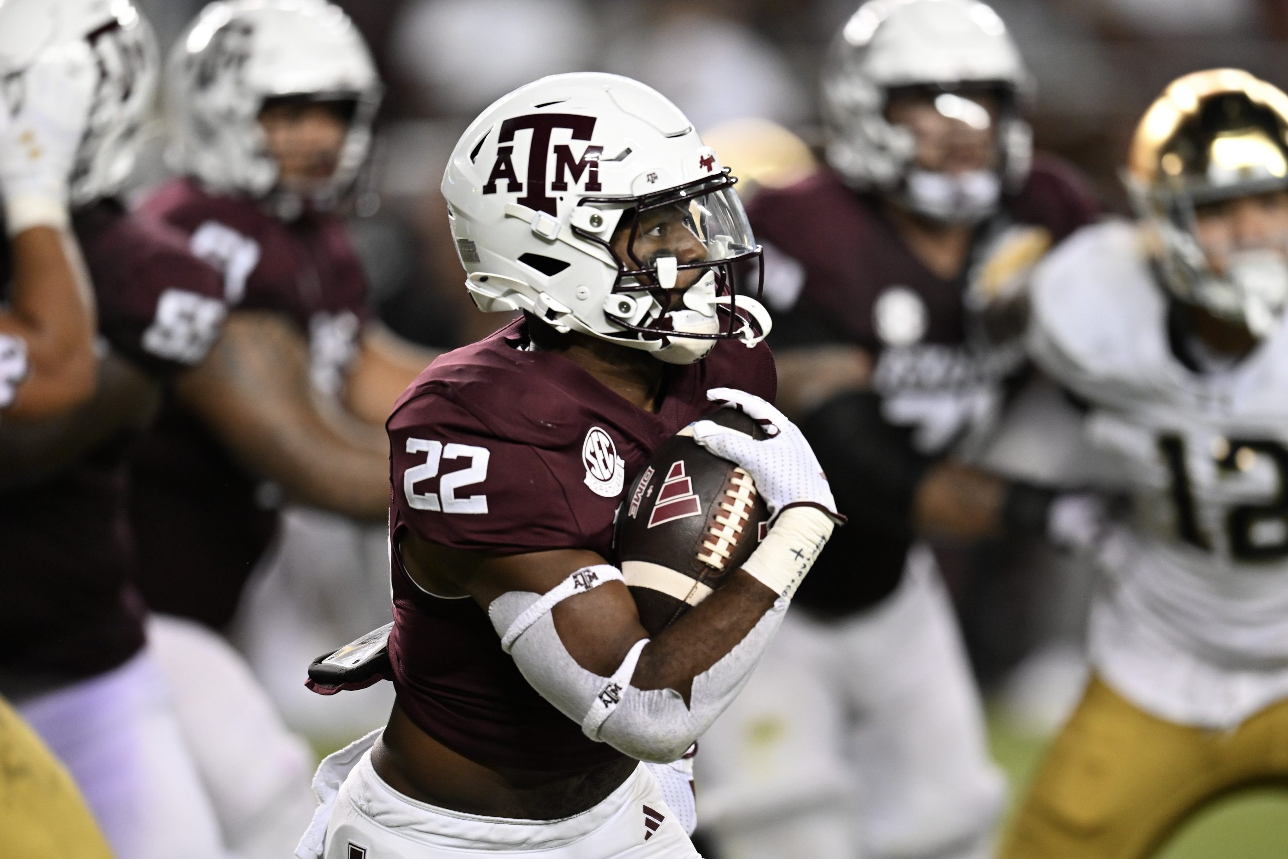
[[[1195,210],[1288,188],[1288,95],[1235,68],[1172,81],[1136,127],[1124,180],[1172,295],[1269,334],[1288,301],[1288,236],[1233,250],[1218,272]]]

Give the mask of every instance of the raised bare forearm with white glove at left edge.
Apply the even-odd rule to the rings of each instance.
[[[10,27],[30,22],[10,13]],[[0,68],[21,68],[30,45],[14,44]],[[13,256],[9,301],[0,309],[0,415],[40,419],[63,412],[94,390],[94,300],[67,222],[67,176],[84,130],[91,82],[58,76],[58,88],[27,91],[0,106],[0,183]],[[23,109],[24,99],[64,100],[64,113]],[[15,121],[17,120],[17,121]],[[45,125],[48,122],[49,125]]]

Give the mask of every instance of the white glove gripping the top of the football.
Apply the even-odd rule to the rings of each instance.
[[[751,475],[770,516],[787,507],[810,505],[842,522],[818,457],[796,424],[760,397],[733,388],[712,388],[707,399],[738,408],[769,433],[769,438],[757,440],[715,421],[692,425],[694,442]]]

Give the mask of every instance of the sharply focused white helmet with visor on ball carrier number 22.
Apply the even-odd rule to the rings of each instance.
[[[737,290],[735,269],[760,247],[735,182],[659,93],[577,72],[483,111],[452,151],[443,196],[480,310],[692,363],[716,339],[752,346],[769,334],[765,309]]]

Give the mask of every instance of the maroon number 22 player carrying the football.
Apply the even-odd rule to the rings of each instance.
[[[613,75],[523,86],[461,137],[442,188],[466,288],[523,318],[434,362],[389,419],[398,702],[319,768],[298,855],[697,856],[665,764],[746,683],[833,524],[768,402],[733,182],[674,104]],[[698,420],[721,403],[772,438]],[[777,518],[650,640],[607,560],[614,511],[687,425]]]

